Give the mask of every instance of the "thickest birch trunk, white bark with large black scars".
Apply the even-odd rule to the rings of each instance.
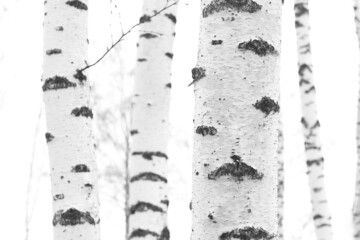
[[[278,239],[281,1],[201,6],[191,239]]]

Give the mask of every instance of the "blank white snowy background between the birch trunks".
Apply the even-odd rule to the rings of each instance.
[[[278,1],[278,0],[274,0]],[[141,0],[90,1],[89,62],[135,24]],[[326,187],[334,239],[352,239],[359,49],[353,0],[310,1],[312,52]],[[115,7],[116,6],[116,7]],[[172,68],[169,225],[172,240],[190,239],[193,89],[199,0],[181,0]],[[0,0],[0,239],[52,239],[45,119],[42,109],[43,2]],[[102,240],[124,239],[124,159],[135,45],[126,37],[90,71],[97,112]],[[293,1],[285,0],[281,109],[285,138],[285,239],[314,240],[300,125]]]

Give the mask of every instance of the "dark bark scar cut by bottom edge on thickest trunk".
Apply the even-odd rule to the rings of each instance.
[[[219,240],[232,240],[234,238],[240,240],[270,240],[275,237],[275,234],[270,234],[263,228],[244,227],[222,233]]]

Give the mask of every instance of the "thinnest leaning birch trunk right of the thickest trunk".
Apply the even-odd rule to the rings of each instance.
[[[313,81],[308,0],[295,0],[295,27],[299,64],[299,85],[313,220],[318,240],[332,239],[331,215],[324,183],[324,157],[321,151],[320,122],[317,116]]]

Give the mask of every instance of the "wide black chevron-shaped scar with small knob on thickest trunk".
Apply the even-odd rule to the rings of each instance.
[[[233,160],[237,159],[234,156],[231,158]],[[244,177],[248,177],[252,180],[261,180],[264,174],[258,172],[256,169],[247,165],[246,163],[241,162],[240,158],[240,160],[234,160],[234,163],[225,163],[221,167],[208,174],[208,178],[210,180],[216,180],[222,176],[231,176],[237,181],[243,181]]]

